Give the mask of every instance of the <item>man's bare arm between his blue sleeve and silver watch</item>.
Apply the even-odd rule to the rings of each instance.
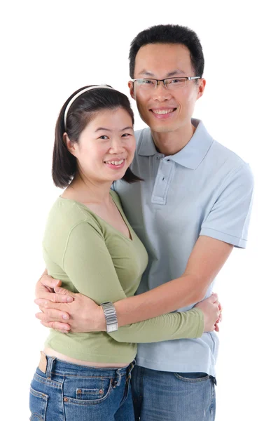
[[[223,241],[200,236],[181,277],[114,303],[119,326],[151,319],[201,301],[232,248]]]

